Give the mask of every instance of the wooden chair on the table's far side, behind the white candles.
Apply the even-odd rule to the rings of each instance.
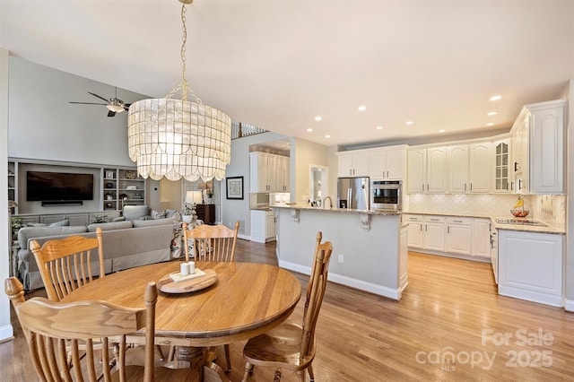
[[[235,257],[235,244],[239,231],[239,221],[235,222],[235,229],[223,224],[202,224],[193,230],[187,230],[187,222],[183,223],[184,242],[186,243],[186,261],[189,261],[189,242],[192,241],[193,257],[205,261],[233,261]]]

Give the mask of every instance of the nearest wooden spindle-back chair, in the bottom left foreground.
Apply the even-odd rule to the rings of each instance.
[[[42,297],[24,299],[22,283],[6,279],[4,291],[12,300],[30,350],[39,380],[95,382],[184,381],[199,378],[196,369],[166,369],[154,365],[155,303],[158,290],[150,282],[143,292],[145,308],[122,308],[105,301],[65,304]],[[126,338],[145,329],[143,366],[126,365]],[[96,341],[103,346],[96,348]],[[112,357],[109,344],[117,354]],[[68,353],[72,352],[71,361]],[[100,354],[97,358],[94,355]],[[114,361],[115,366],[109,365]]]

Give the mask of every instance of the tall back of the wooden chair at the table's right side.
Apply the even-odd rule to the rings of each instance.
[[[323,302],[326,291],[326,282],[328,274],[328,265],[333,253],[331,242],[321,243],[322,232],[317,233],[317,246],[309,285],[307,287],[307,299],[303,311],[303,339],[301,341],[301,357],[311,353],[315,346],[315,328],[317,318]]]

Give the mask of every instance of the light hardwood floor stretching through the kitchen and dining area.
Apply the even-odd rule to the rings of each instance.
[[[276,265],[274,249],[239,240],[237,261]],[[301,312],[302,300],[290,319]],[[0,344],[0,381],[37,380],[13,325],[17,338]],[[329,283],[317,326],[317,382],[574,380],[574,314],[497,295],[489,264],[410,253],[400,302]],[[243,344],[231,344],[233,381]],[[256,368],[250,380],[271,381],[273,370]],[[284,370],[282,380],[297,378]]]

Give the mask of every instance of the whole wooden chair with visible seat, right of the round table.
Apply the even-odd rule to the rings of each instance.
[[[243,348],[246,364],[242,381],[247,381],[249,373],[253,372],[255,365],[277,368],[274,381],[281,379],[282,368],[295,371],[300,381],[305,381],[305,370],[307,369],[311,381],[315,380],[311,367],[316,350],[315,328],[321,302],[325,296],[329,259],[333,252],[333,247],[329,241],[321,243],[322,237],[323,234],[319,231],[313,270],[307,286],[303,325],[283,323],[265,334],[249,339]]]

